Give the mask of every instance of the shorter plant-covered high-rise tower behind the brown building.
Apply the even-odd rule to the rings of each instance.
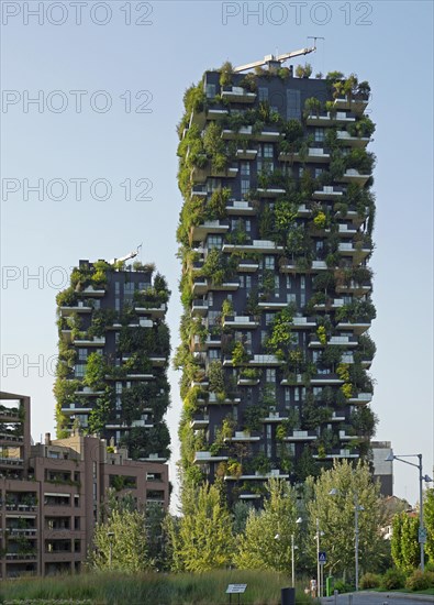
[[[168,459],[170,293],[154,271],[80,261],[57,295],[57,437],[75,425],[126,447],[133,459]]]

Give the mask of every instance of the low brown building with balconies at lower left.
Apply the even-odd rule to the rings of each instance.
[[[77,573],[107,491],[169,504],[168,468],[76,432],[31,444],[30,398],[0,394],[0,578]]]

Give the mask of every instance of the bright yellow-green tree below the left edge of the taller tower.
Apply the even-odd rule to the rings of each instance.
[[[169,522],[174,570],[204,572],[224,568],[233,554],[232,516],[215,485],[182,492],[183,517]]]

